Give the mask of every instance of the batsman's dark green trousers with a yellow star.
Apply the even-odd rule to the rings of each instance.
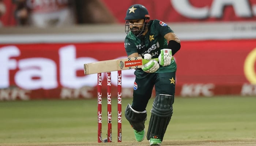
[[[146,73],[141,70],[135,71],[133,88],[132,108],[136,111],[146,110],[148,100],[155,86],[155,94],[175,94],[176,72],[169,73]]]

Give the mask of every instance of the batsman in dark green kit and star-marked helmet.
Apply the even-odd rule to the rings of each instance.
[[[131,5],[125,16],[124,47],[128,57],[142,56],[149,60],[136,69],[132,104],[125,109],[125,118],[134,130],[135,139],[145,137],[146,107],[155,87],[151,116],[147,129],[150,146],[161,145],[173,114],[177,65],[173,55],[180,50],[180,39],[161,20],[150,20],[146,7]],[[158,58],[158,62],[153,58]]]

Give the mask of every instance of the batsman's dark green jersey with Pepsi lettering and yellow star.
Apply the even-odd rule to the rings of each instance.
[[[158,58],[160,50],[167,48],[167,40],[164,36],[169,32],[173,32],[173,30],[164,22],[157,19],[150,20],[146,35],[136,37],[132,32],[129,32],[124,41],[125,51],[128,56],[138,52],[142,57],[149,53],[152,58]],[[160,65],[155,73],[174,72],[176,68],[176,62],[172,60],[169,66]]]

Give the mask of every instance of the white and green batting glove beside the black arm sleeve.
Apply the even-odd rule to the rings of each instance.
[[[172,49],[162,49],[158,61],[162,66],[170,65],[172,62]]]

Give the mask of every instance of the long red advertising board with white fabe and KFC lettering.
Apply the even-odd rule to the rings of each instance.
[[[182,42],[174,56],[178,66],[176,95],[255,96],[255,42]],[[83,64],[126,57],[124,44],[119,42],[1,44],[0,100],[95,98],[97,74],[84,75]],[[132,97],[133,72],[122,71],[122,97]],[[102,73],[103,97],[106,80],[106,73]],[[117,72],[112,72],[113,97],[117,82]]]

